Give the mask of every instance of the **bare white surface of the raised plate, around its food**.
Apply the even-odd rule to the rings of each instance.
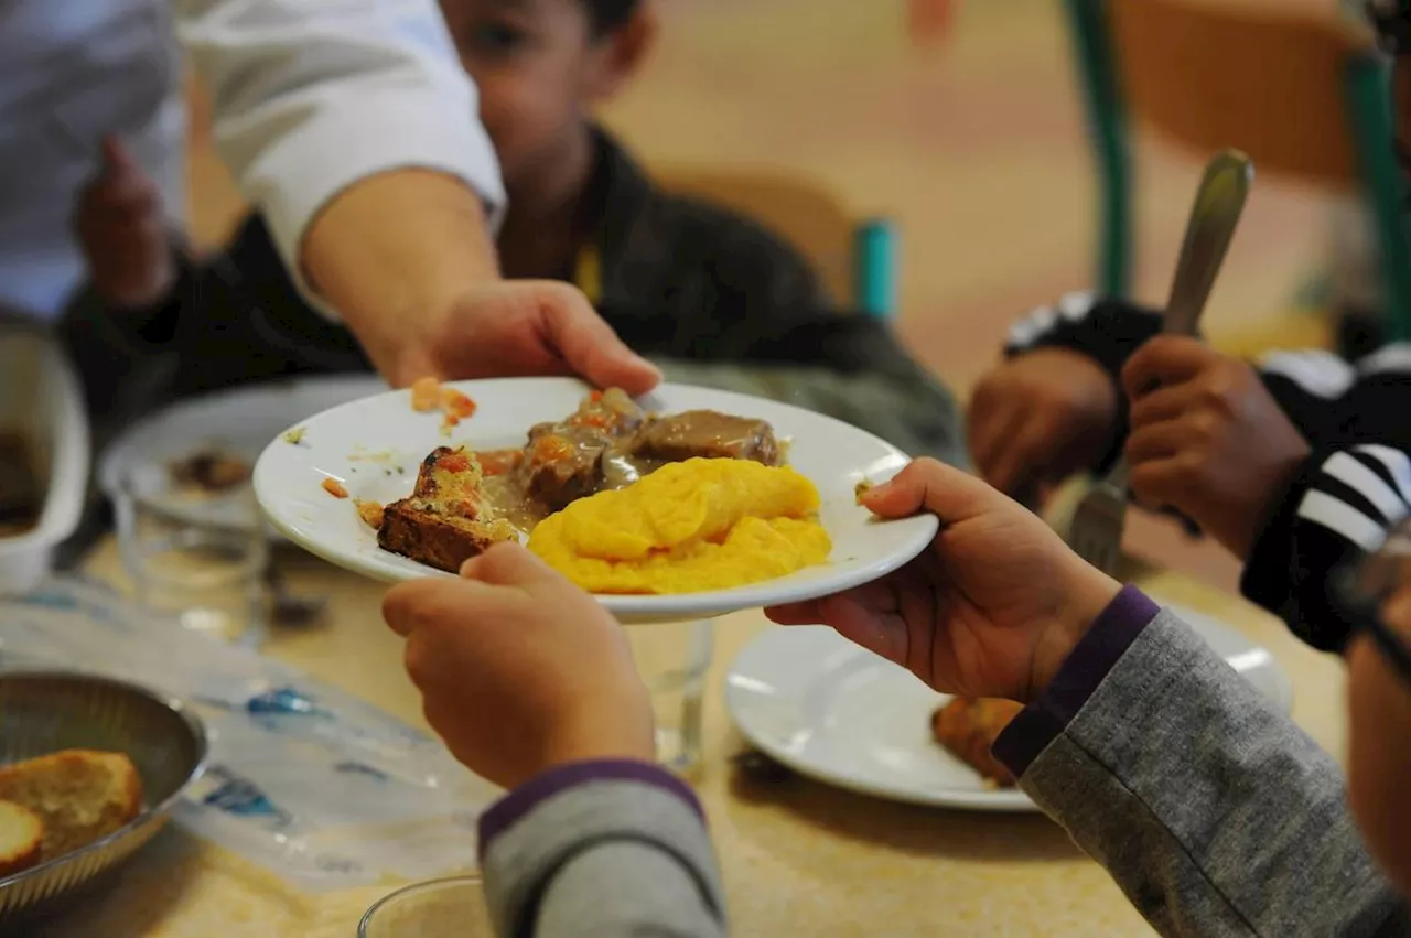
[[[382,504],[404,498],[416,480],[416,467],[437,446],[522,446],[533,423],[569,416],[588,391],[569,378],[461,381],[453,386],[478,406],[452,439],[440,430],[442,415],[412,410],[406,391],[357,401],[302,422],[298,446],[275,434],[255,465],[254,480],[255,495],[275,528],[330,563],[378,580],[450,575],[381,550],[351,499],[330,497],[322,488],[323,480],[339,480],[353,498]],[[931,515],[880,523],[855,504],[859,481],[885,481],[907,463],[900,450],[869,433],[775,401],[683,385],[662,385],[641,403],[658,413],[704,408],[769,420],[779,437],[789,440],[789,463],[818,487],[820,520],[834,547],[827,564],[737,590],[600,597],[624,622],[697,619],[827,595],[896,570],[935,536]]]

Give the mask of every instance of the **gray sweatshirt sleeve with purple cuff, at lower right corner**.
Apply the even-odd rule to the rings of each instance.
[[[995,743],[1164,935],[1403,935],[1336,763],[1129,588]]]

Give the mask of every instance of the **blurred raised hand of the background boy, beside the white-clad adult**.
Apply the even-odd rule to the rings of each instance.
[[[117,306],[151,306],[176,279],[161,193],[127,148],[103,141],[103,166],[75,217],[93,289]]]

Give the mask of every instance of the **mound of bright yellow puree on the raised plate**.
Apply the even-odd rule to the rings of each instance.
[[[529,550],[588,592],[728,590],[820,564],[818,489],[789,467],[670,463],[535,526]]]

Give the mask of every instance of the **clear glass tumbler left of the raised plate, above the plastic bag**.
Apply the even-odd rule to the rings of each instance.
[[[188,629],[258,643],[270,554],[254,487],[198,494],[165,475],[165,467],[138,468],[117,495],[119,552],[137,599]]]

